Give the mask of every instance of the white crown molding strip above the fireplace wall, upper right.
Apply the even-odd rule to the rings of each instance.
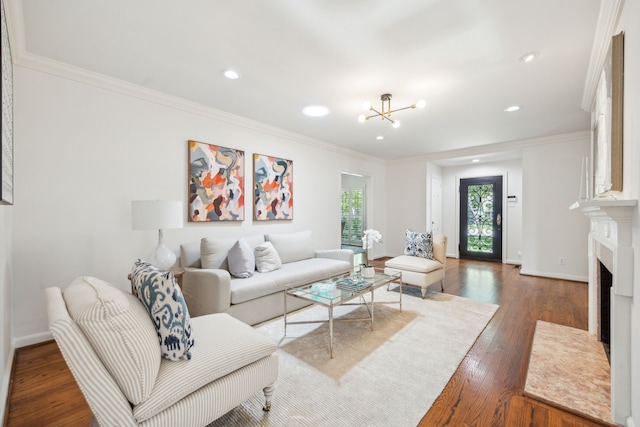
[[[593,46],[591,47],[591,59],[587,68],[587,78],[582,92],[582,109],[591,112],[596,97],[596,89],[600,73],[604,66],[607,52],[611,46],[611,36],[613,36],[624,0],[601,0],[600,12],[598,13],[598,21],[596,22],[596,32],[593,37]]]

